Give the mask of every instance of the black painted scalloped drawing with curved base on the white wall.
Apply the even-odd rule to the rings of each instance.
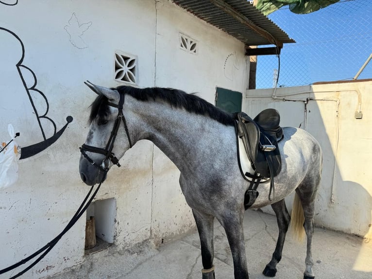
[[[17,142],[21,157],[32,157],[51,146],[65,131],[73,118],[57,132],[53,120],[47,116],[49,102],[46,95],[36,88],[33,70],[23,65],[25,48],[21,39],[12,31],[0,27],[0,136],[7,135],[7,123],[20,132]],[[7,139],[3,139],[7,140]]]

